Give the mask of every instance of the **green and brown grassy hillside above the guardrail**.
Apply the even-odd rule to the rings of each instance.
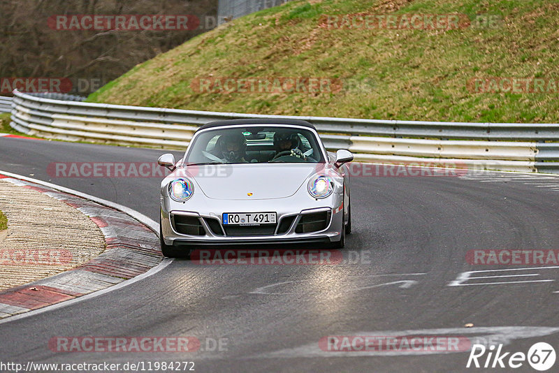
[[[460,29],[328,29],[324,15],[460,13]],[[480,18],[481,16],[481,18]],[[486,17],[486,18],[484,18]],[[89,101],[375,119],[558,122],[557,93],[472,93],[472,78],[557,79],[559,3],[544,0],[292,1],[242,17],[110,82]],[[200,93],[198,78],[368,79],[326,93]]]

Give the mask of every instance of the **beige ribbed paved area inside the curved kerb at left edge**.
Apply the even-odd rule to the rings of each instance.
[[[105,250],[105,237],[85,214],[45,193],[0,180],[0,290],[75,268]]]

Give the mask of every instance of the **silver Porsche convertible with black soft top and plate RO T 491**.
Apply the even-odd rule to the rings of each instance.
[[[194,133],[186,154],[159,157],[161,251],[205,245],[344,247],[351,232],[347,150],[329,153],[302,120],[235,119]]]

